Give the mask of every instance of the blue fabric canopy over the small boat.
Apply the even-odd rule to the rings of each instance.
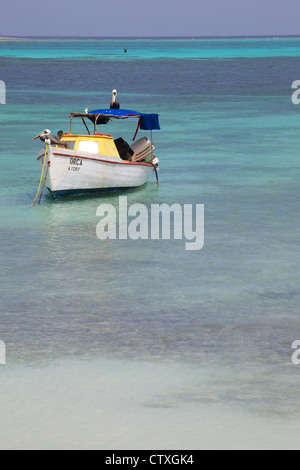
[[[97,119],[97,123],[101,124],[106,121],[105,117],[107,118],[119,118],[119,119],[126,119],[129,117],[137,117],[139,118],[140,128],[142,130],[153,130],[153,129],[160,129],[158,114],[145,114],[139,113],[138,111],[132,111],[130,109],[96,109],[95,111],[89,111],[89,114],[98,114],[99,119]],[[101,119],[104,118],[104,121]],[[92,122],[95,122],[94,117],[90,117],[89,119]]]

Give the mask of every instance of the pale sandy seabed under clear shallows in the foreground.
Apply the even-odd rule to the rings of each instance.
[[[0,370],[1,449],[297,449],[299,425],[185,400],[179,363],[98,359]]]

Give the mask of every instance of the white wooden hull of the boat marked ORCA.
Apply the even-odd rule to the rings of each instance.
[[[38,160],[43,165],[45,150]],[[142,186],[153,171],[146,162],[48,146],[46,187],[54,199]]]

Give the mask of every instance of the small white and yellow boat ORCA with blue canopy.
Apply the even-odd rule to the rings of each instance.
[[[72,134],[72,121],[81,118],[87,134]],[[137,129],[149,130],[150,140],[141,137],[129,145],[123,138],[97,132],[98,126],[111,120],[137,119]],[[90,132],[86,120],[93,123]],[[152,130],[160,129],[157,114],[124,109],[98,109],[70,114],[70,132],[52,136],[46,129],[38,137],[45,148],[38,154],[42,166],[43,188],[54,199],[100,194],[104,190],[136,188],[147,182],[155,171],[158,159],[153,154]],[[40,189],[40,188],[39,188]],[[39,191],[38,191],[39,192]],[[41,197],[40,197],[41,198]]]

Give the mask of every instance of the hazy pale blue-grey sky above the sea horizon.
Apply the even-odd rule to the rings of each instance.
[[[300,0],[2,0],[3,36],[300,34]]]

